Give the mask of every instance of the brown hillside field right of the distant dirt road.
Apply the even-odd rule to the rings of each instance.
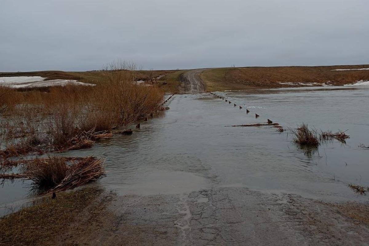
[[[287,83],[323,83],[342,86],[359,80],[369,80],[369,70],[332,71],[334,69],[368,68],[369,65],[347,66],[286,66],[286,67],[230,67],[209,69],[201,73],[206,90],[237,90],[292,87]],[[303,85],[293,85],[298,87]]]

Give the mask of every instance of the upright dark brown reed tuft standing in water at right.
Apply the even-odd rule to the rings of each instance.
[[[292,141],[305,146],[319,146],[319,138],[315,128],[309,129],[307,124],[301,124],[297,130],[290,129],[294,138]]]

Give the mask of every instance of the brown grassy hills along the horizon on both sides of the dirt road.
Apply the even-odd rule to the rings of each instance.
[[[245,90],[258,88],[302,87],[300,83],[317,83],[342,86],[359,80],[369,80],[369,70],[332,71],[334,69],[368,68],[369,65],[339,66],[284,66],[284,67],[225,67],[204,70],[200,77],[207,91]],[[178,93],[181,87],[181,75],[189,70],[137,70],[134,80],[144,80],[155,84],[165,92]],[[4,76],[42,76],[48,79],[70,79],[85,83],[100,84],[108,82],[106,71],[63,72],[39,71],[0,73]],[[284,83],[296,83],[280,84]],[[39,89],[41,90],[41,89]]]

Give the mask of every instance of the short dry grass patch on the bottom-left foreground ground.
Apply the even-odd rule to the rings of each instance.
[[[45,196],[0,219],[0,245],[76,245],[70,235],[78,237],[90,225],[101,226],[99,218],[110,200],[92,187],[59,193],[56,199]]]

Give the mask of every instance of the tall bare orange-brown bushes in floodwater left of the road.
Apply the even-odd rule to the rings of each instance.
[[[2,144],[1,156],[88,148],[98,140],[94,133],[107,134],[160,107],[163,92],[156,86],[135,84],[134,65],[113,64],[110,69],[105,81],[94,87],[70,84],[46,92],[0,87],[4,95],[15,95],[0,98],[4,109],[0,111],[0,134],[3,139],[18,138]],[[42,141],[32,145],[29,139],[35,137]]]

